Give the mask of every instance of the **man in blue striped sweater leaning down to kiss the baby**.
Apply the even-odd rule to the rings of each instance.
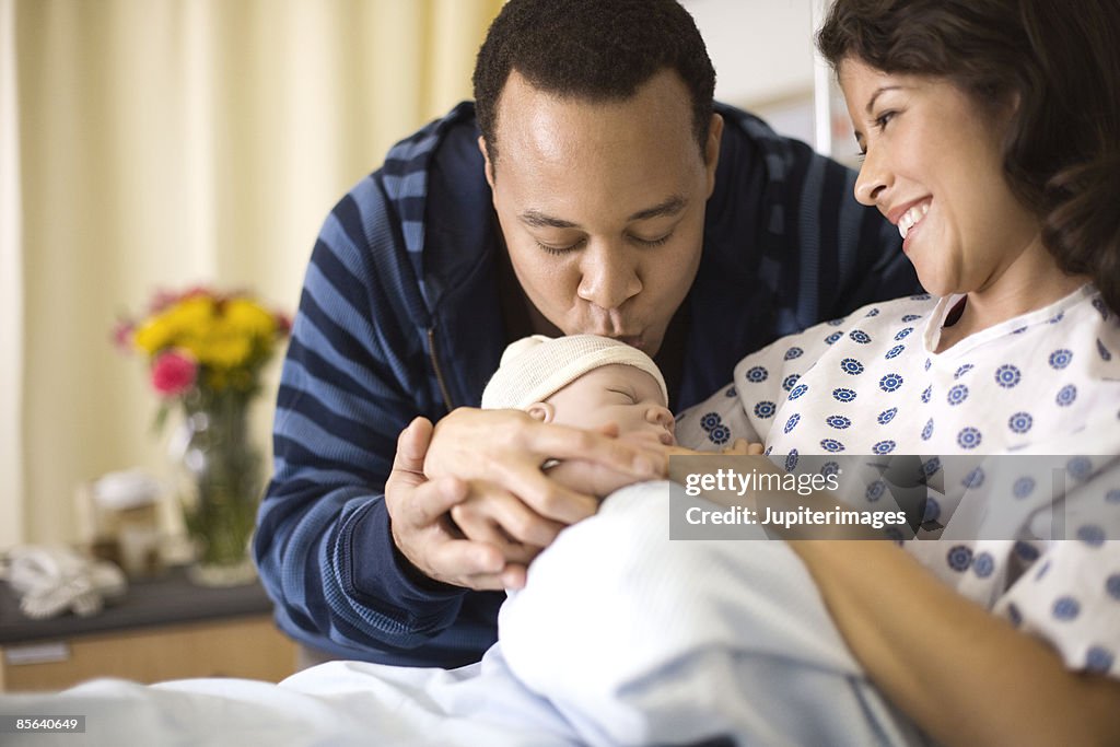
[[[327,655],[477,661],[496,590],[596,507],[539,465],[641,476],[609,433],[463,409],[507,343],[623,339],[679,411],[775,337],[917,288],[852,174],[713,105],[673,0],[512,0],[474,82],[335,207],[308,270],[255,553],[281,628]],[[427,420],[398,441],[418,415],[444,419],[430,450]]]

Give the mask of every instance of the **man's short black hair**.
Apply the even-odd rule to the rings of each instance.
[[[676,0],[510,0],[475,64],[475,106],[491,162],[497,159],[497,104],[512,71],[538,90],[606,102],[629,99],[666,68],[692,99],[702,155],[716,71],[692,16]]]

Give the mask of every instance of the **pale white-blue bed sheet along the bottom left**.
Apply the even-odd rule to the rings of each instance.
[[[56,694],[2,697],[0,713],[86,717],[85,734],[0,735],[0,744],[28,747],[580,744],[545,701],[504,675],[497,648],[460,670],[328,662],[280,684],[93,680]]]

